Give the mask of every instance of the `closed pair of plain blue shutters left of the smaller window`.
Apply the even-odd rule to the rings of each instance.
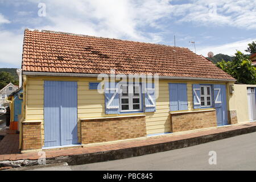
[[[170,110],[188,110],[187,84],[169,84]]]

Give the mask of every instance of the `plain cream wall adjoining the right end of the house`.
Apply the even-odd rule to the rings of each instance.
[[[249,121],[247,87],[256,85],[234,84],[234,94],[229,98],[230,110],[237,110],[238,123]]]

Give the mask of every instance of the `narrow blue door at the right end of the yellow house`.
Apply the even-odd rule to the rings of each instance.
[[[228,109],[226,106],[226,85],[213,85],[214,107],[216,109],[217,126],[228,125]]]

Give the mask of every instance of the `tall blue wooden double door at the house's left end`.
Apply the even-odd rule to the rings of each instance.
[[[44,81],[44,147],[77,139],[77,82]]]

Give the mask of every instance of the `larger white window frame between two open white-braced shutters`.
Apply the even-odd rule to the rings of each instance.
[[[122,85],[128,85],[128,96],[122,96]],[[121,112],[142,111],[141,84],[135,83],[135,85],[139,85],[139,96],[133,95],[133,85],[134,85],[133,82],[120,84],[119,104],[120,104]],[[122,98],[128,99],[128,105],[129,105],[128,110],[122,110],[122,105],[125,105],[125,104],[122,104]],[[133,98],[139,98],[139,109],[133,109]]]

